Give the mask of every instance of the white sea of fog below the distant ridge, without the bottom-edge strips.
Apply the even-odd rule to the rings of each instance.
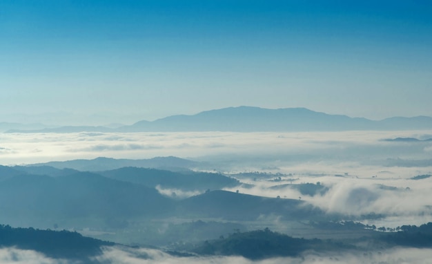
[[[261,171],[283,173],[277,182],[268,178],[241,178],[244,194],[300,198],[328,213],[353,216],[432,214],[432,166],[397,165],[397,160],[431,160],[432,142],[396,142],[394,138],[431,138],[431,131],[345,131],[314,133],[3,133],[3,164],[29,164],[52,160],[153,158],[174,155],[206,162],[195,168],[222,173]],[[389,165],[388,160],[396,164]],[[432,165],[432,164],[431,164]],[[316,183],[325,194],[307,196],[290,184]],[[285,185],[270,189],[275,185]],[[199,191],[162,189],[161,194],[186,198]]]

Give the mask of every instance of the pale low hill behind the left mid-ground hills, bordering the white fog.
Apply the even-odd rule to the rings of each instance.
[[[78,171],[108,171],[123,167],[141,167],[155,169],[191,169],[199,162],[177,157],[156,157],[143,160],[128,160],[99,157],[93,160],[68,160],[31,164],[30,167],[49,166],[57,169],[76,169]],[[35,169],[33,169],[35,171]],[[39,173],[38,173],[39,174]]]

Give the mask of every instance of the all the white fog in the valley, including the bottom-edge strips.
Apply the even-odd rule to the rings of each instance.
[[[241,194],[299,199],[327,214],[351,216],[377,227],[432,222],[431,131],[346,131],[320,133],[3,133],[4,165],[97,157],[145,159],[177,156],[195,160],[197,171],[237,178],[242,185],[226,188]],[[421,161],[421,162],[419,162]],[[243,173],[243,174],[242,174]],[[250,173],[250,174],[244,174]],[[324,189],[304,194],[299,186]],[[158,185],[157,191],[177,200],[202,194]],[[381,214],[384,218],[363,218]],[[255,227],[286,232],[277,214],[261,215]],[[279,228],[280,227],[280,228]],[[302,233],[298,233],[302,236]],[[292,232],[295,235],[295,232]],[[298,258],[250,261],[239,256],[177,257],[157,249],[105,247],[100,263],[424,263],[431,249],[394,248],[381,252],[306,252]],[[1,263],[70,263],[29,250],[3,248]]]

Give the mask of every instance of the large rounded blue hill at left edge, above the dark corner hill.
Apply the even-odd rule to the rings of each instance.
[[[153,217],[170,208],[173,201],[156,189],[95,173],[23,174],[0,181],[0,223],[49,227],[66,222],[77,225],[86,218],[88,223],[102,221],[109,227],[116,220]]]

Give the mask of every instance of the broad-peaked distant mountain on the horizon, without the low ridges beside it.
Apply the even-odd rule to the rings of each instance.
[[[153,122],[137,122],[122,131],[337,131],[369,129],[374,121],[328,115],[304,108],[262,109],[239,106],[173,115]]]

